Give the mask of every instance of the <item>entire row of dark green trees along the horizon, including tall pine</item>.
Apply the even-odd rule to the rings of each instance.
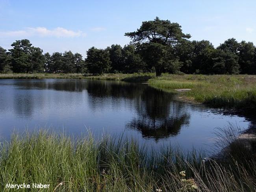
[[[214,48],[210,41],[189,41],[178,23],[158,17],[125,36],[130,44],[92,47],[85,59],[71,51],[43,54],[28,39],[15,41],[9,51],[0,47],[0,72],[256,74],[252,42],[231,38]]]

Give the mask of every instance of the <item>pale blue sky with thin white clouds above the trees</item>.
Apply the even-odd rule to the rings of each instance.
[[[92,46],[128,44],[124,33],[155,17],[215,47],[232,37],[256,44],[256,0],[0,0],[0,46],[29,39],[44,53],[85,56]]]

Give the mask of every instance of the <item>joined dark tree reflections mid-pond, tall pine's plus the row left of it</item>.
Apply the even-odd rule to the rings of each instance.
[[[128,104],[135,109],[136,116],[125,127],[141,131],[144,138],[159,140],[174,136],[183,125],[189,124],[186,108],[182,103],[172,102],[171,93],[143,84],[111,81],[89,81],[86,89],[93,111],[106,105],[120,107],[124,98],[129,99]]]

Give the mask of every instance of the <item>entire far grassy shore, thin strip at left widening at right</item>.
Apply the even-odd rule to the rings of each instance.
[[[191,75],[153,73],[103,74],[0,74],[0,79],[96,79],[147,83],[156,89],[177,93],[180,101],[215,108],[256,109],[256,75]],[[182,90],[182,91],[179,91]],[[186,90],[186,91],[183,91]]]

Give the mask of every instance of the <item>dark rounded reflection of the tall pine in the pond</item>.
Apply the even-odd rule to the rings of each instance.
[[[136,103],[138,116],[126,127],[155,140],[177,135],[183,125],[189,124],[189,114],[181,103],[170,102],[172,98],[173,94],[145,88],[141,101]]]

